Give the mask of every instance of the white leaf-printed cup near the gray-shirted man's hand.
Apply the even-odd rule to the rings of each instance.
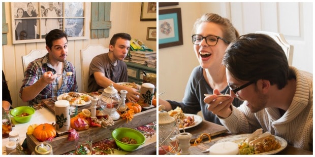
[[[150,83],[143,83],[140,89],[140,97],[138,104],[142,107],[149,107],[152,105],[155,86]]]

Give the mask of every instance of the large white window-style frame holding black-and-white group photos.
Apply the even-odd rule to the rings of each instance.
[[[89,37],[84,2],[11,3],[13,44],[45,42],[53,29],[66,32],[68,40]],[[48,14],[52,11],[53,14]],[[51,16],[55,15],[55,16]]]

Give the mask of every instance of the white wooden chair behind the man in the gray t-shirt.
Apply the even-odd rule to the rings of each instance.
[[[108,53],[108,51],[109,49],[103,45],[88,45],[85,49],[80,50],[83,91],[87,91],[90,62],[95,56]]]

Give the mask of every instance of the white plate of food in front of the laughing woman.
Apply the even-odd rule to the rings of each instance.
[[[197,114],[184,113],[185,118],[182,120],[182,125],[179,125],[179,130],[189,129],[198,126],[202,121],[202,117]]]

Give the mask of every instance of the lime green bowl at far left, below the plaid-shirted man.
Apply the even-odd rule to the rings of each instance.
[[[29,115],[27,116],[17,116],[20,115],[22,113],[28,113]],[[14,117],[14,120],[18,123],[27,123],[30,121],[31,116],[35,113],[35,109],[32,107],[28,107],[28,106],[20,106],[20,107],[16,107],[13,108],[10,111],[10,114]]]

